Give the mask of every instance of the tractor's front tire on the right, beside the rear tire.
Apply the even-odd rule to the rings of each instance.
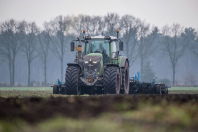
[[[120,93],[120,73],[117,67],[107,67],[104,71],[104,94]]]

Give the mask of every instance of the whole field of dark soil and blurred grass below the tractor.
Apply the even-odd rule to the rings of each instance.
[[[0,131],[196,132],[197,91],[169,93],[67,96],[52,90],[0,90]]]

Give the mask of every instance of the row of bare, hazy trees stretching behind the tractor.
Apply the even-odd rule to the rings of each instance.
[[[162,29],[151,26],[133,15],[119,16],[107,13],[105,16],[57,16],[38,27],[35,22],[14,19],[0,23],[0,60],[8,64],[10,86],[15,83],[15,61],[19,52],[25,55],[28,63],[28,86],[31,81],[31,63],[39,58],[44,66],[44,82],[47,83],[47,64],[50,55],[60,61],[61,80],[63,80],[63,62],[70,52],[70,42],[76,37],[86,35],[116,36],[124,42],[124,51],[129,58],[130,67],[140,59],[140,72],[144,74],[144,64],[151,55],[160,51],[169,58],[172,65],[173,85],[178,60],[189,49],[198,58],[198,34],[194,28],[184,28],[180,24],[165,25]]]

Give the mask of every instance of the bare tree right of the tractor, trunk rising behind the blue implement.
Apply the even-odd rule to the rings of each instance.
[[[155,41],[158,38],[158,28],[154,27],[150,29],[150,25],[146,24],[145,21],[141,22],[138,31],[138,52],[141,61],[141,76],[143,74],[144,63],[148,58],[154,53],[157,46],[155,46]]]

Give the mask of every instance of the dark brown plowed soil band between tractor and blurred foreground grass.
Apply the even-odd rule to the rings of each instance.
[[[165,102],[165,103],[164,103]],[[75,119],[97,117],[104,112],[135,111],[140,104],[165,107],[184,104],[194,106],[190,111],[198,119],[198,95],[105,95],[67,97],[0,98],[0,119],[23,119],[29,123],[40,122],[57,115]],[[198,121],[197,121],[198,123]]]

